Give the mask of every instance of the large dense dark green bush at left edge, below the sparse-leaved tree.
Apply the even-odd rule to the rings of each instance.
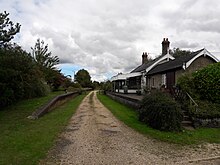
[[[42,72],[19,46],[0,49],[0,107],[48,93]]]

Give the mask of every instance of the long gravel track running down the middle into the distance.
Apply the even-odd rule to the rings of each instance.
[[[143,136],[118,121],[91,92],[40,164],[220,164],[220,145],[187,148]],[[195,160],[195,161],[189,161]]]

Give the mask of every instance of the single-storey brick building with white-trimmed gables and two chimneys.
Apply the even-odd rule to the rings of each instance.
[[[162,55],[148,61],[146,52],[142,55],[142,64],[127,74],[113,76],[113,90],[119,93],[144,92],[144,89],[170,88],[177,83],[183,73],[197,71],[219,60],[205,48],[174,58],[169,53],[170,42],[168,38],[162,41]],[[126,89],[126,90],[125,90]]]

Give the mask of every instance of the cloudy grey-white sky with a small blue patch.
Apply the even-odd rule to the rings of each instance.
[[[86,69],[105,81],[141,64],[142,53],[206,48],[220,59],[218,0],[0,0],[21,30],[14,38],[28,52],[38,38],[58,56],[64,75]]]

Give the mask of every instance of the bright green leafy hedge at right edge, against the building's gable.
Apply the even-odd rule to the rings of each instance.
[[[195,72],[193,83],[200,99],[220,103],[220,63],[208,65]]]

